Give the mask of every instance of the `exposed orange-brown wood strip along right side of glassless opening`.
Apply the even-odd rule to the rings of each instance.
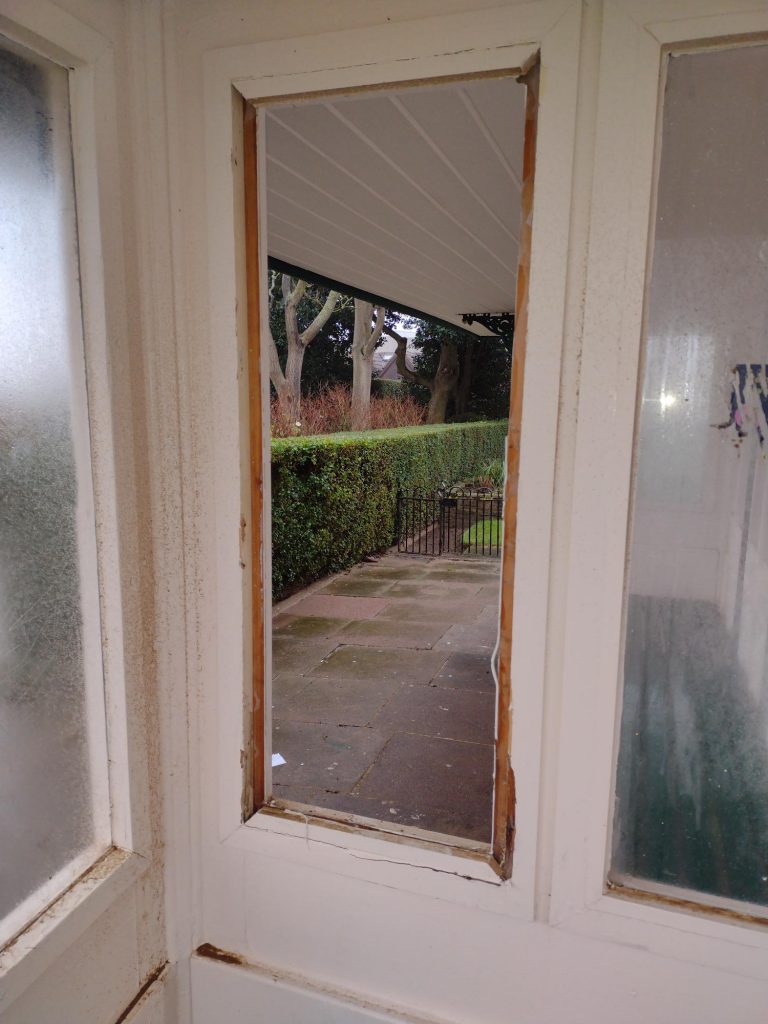
[[[517,487],[520,472],[520,426],[522,388],[528,327],[528,280],[534,218],[537,117],[539,112],[538,56],[523,81],[525,140],[520,194],[521,227],[515,291],[515,336],[512,346],[509,431],[507,435],[507,480],[504,499],[504,552],[502,555],[501,625],[499,633],[499,693],[494,782],[493,857],[503,879],[512,876],[515,839],[515,776],[511,767],[512,618],[514,613],[515,550],[517,544]]]

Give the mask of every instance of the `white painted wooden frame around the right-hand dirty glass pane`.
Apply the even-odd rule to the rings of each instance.
[[[766,978],[766,929],[632,901],[606,889],[630,480],[666,58],[671,50],[760,39],[768,41],[765,3],[604,5],[548,914],[553,924],[584,934]]]

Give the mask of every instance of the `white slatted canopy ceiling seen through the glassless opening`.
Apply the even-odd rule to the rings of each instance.
[[[269,255],[450,323],[507,312],[523,129],[511,78],[269,106]]]

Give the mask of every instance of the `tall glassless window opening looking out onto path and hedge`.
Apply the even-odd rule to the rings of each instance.
[[[254,551],[253,799],[246,812],[250,804],[347,816],[485,851],[506,873],[514,831],[509,673],[537,71],[524,84],[506,76],[311,97],[264,104],[260,113],[245,104],[251,517],[258,523],[271,512],[273,566],[281,560],[273,573],[279,596],[284,596],[281,572],[292,552],[314,573],[297,572],[293,579],[286,573],[287,601],[275,607],[265,628],[269,602],[263,566],[257,564],[263,553]],[[462,125],[474,145],[457,146]],[[258,145],[265,148],[259,165],[266,174],[266,209],[261,211]],[[500,180],[507,182],[501,197]],[[456,202],[462,193],[471,197],[472,216]],[[254,270],[259,241],[267,250],[262,271],[268,254],[268,280]],[[301,268],[303,278],[298,269],[287,272],[293,268]],[[414,324],[404,310],[426,315],[421,325]],[[396,481],[382,489],[376,472],[360,468],[359,460],[357,486],[362,481],[370,494],[350,492],[347,507],[343,502],[334,506],[330,536],[323,512],[338,496],[328,464],[344,463],[339,453],[348,452],[353,436],[306,436],[307,407],[323,422],[317,403],[307,400],[311,392],[301,386],[305,369],[317,373],[309,361],[321,351],[317,338],[326,342],[324,358],[336,356],[337,369],[339,350],[343,362],[344,345],[351,348],[350,392],[333,396],[343,407],[336,410],[337,424],[364,431],[380,425],[372,379],[376,352],[386,344],[392,351],[382,367],[389,362],[399,385],[422,388],[423,418],[436,425],[452,410],[467,413],[469,378],[481,361],[482,338],[486,350],[494,341],[482,314],[503,314],[509,325],[515,311],[511,356],[507,348],[509,423],[496,431],[497,458],[476,467],[454,460],[454,471],[471,479],[436,479],[432,486],[442,516],[453,522],[454,554],[463,560],[403,561],[396,549],[387,553],[397,539],[394,522],[387,519],[396,516]],[[416,360],[409,333],[422,343]],[[275,432],[285,438],[273,442],[279,458],[271,470],[270,509],[261,504],[261,452],[269,422],[263,409],[264,345],[270,347],[271,407],[281,418]],[[431,366],[424,357],[428,345],[433,346]],[[419,429],[434,435],[440,428]],[[471,422],[464,433],[459,424],[443,429],[454,431],[464,445],[474,443],[467,436],[482,432]],[[395,437],[387,442],[393,444]],[[370,443],[366,434],[364,446]],[[308,480],[307,467],[318,463],[325,466]],[[483,470],[486,478],[480,479]],[[341,472],[349,475],[349,465]],[[487,492],[493,501],[499,485],[506,494],[500,490],[496,506],[475,502],[474,516],[459,525],[461,503],[451,494],[456,483],[468,483],[473,498]],[[307,511],[312,493],[319,512]],[[371,537],[362,544],[352,519],[345,519],[355,502],[364,512],[380,510],[381,521],[371,524]],[[453,506],[447,513],[446,506]],[[301,509],[303,520],[275,528],[275,515],[285,516],[290,508]],[[503,557],[489,564],[484,558],[498,548],[502,523]],[[425,522],[425,528],[430,524]],[[348,551],[329,557],[329,548],[338,548],[340,539]],[[464,557],[473,548],[474,560]],[[312,564],[309,556],[315,552]],[[500,595],[501,568],[505,587]],[[308,592],[290,593],[300,584]],[[271,640],[271,687],[265,685],[258,649],[265,634]],[[425,771],[430,760],[432,770]],[[435,799],[439,792],[442,798]]]

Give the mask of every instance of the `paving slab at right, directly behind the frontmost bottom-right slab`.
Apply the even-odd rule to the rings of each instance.
[[[371,724],[383,733],[397,731],[469,743],[493,743],[495,715],[493,691],[407,683],[384,705]]]

